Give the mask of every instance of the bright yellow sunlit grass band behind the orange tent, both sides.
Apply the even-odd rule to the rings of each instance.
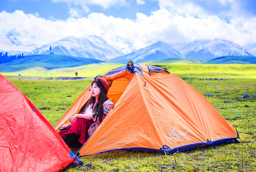
[[[170,73],[176,74],[179,77],[193,76],[194,78],[250,78],[256,79],[256,65],[243,64],[168,64],[168,63],[144,63],[157,65],[167,69]],[[68,76],[75,77],[75,71],[78,72],[78,77],[95,77],[98,74],[106,74],[110,70],[122,66],[119,63],[98,63],[70,68],[59,68],[46,70],[42,67],[33,67],[23,71],[12,73],[1,73],[3,75],[18,75],[24,76]]]

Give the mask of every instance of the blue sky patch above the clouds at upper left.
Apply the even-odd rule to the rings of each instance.
[[[126,4],[112,4],[104,7],[100,4],[87,4],[88,11],[82,9],[81,4],[75,4],[75,1],[66,3],[65,1],[52,0],[1,0],[0,12],[14,12],[22,10],[24,13],[38,13],[40,17],[45,19],[67,20],[69,17],[86,17],[89,13],[103,13],[106,16],[119,17],[122,19],[136,19],[136,13],[141,12],[150,15],[152,11],[159,10],[158,1],[149,0],[147,3],[141,1],[142,4],[134,1],[127,1]],[[78,16],[70,14],[71,9],[79,11]]]

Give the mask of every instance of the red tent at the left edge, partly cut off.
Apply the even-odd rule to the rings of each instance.
[[[0,171],[60,171],[69,147],[32,102],[0,74]]]

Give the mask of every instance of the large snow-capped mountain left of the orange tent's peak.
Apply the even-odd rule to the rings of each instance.
[[[59,41],[46,44],[24,55],[49,54],[50,46],[52,48],[51,52],[54,54],[86,57],[103,61],[108,61],[117,56],[123,55],[122,52],[116,50],[103,38],[95,35],[91,35],[87,38],[76,38],[74,36],[66,37]]]

